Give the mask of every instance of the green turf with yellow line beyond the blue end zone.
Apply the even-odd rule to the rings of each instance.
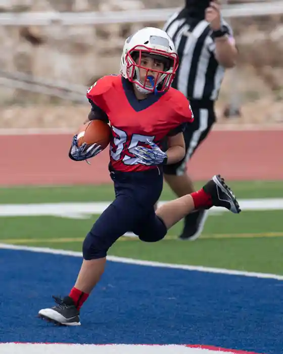
[[[200,186],[202,183],[197,184]],[[230,186],[239,199],[283,198],[281,182],[232,182]],[[0,203],[21,206],[99,202],[111,201],[113,195],[112,185],[0,188]],[[161,199],[172,198],[165,186]],[[242,211],[240,215],[224,212],[208,217],[203,235],[195,242],[177,239],[181,230],[179,223],[169,231],[166,239],[155,244],[122,237],[109,254],[283,274],[282,215],[281,210]],[[0,242],[80,251],[82,240],[97,217],[0,216]]]

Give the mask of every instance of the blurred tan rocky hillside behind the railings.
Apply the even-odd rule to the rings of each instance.
[[[182,0],[3,0],[0,2],[0,11],[138,11],[144,8],[177,7],[182,4]],[[231,97],[235,104],[240,100],[243,113],[241,119],[244,121],[281,121],[282,20],[281,15],[276,15],[230,21],[238,42],[240,58],[238,69],[230,70],[223,83],[218,104],[220,121]],[[43,79],[87,86],[102,75],[118,72],[124,38],[145,25],[149,24],[0,27],[1,70],[19,71]],[[150,25],[161,27],[162,23]],[[14,116],[12,112],[18,109],[15,105],[20,105],[23,111],[23,105],[36,103],[38,112],[41,111],[34,113],[32,123],[24,123],[25,120],[22,120],[23,124],[52,126],[59,120],[50,119],[52,113],[48,115],[49,118],[42,118],[42,112],[57,109],[57,113],[53,115],[62,116],[62,109],[54,108],[54,103],[60,107],[70,105],[69,102],[52,96],[32,94],[7,86],[0,86],[0,101],[3,104],[0,127],[14,124],[11,115]],[[45,108],[40,109],[38,105],[44,105]],[[259,105],[264,106],[260,112],[256,109]],[[25,116],[32,117],[31,108],[28,109]],[[38,116],[41,116],[41,122]]]

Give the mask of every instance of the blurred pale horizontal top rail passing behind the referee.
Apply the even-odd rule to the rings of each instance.
[[[107,12],[23,12],[0,14],[1,26],[102,25],[165,21],[177,8]],[[224,5],[225,18],[283,14],[283,1]]]

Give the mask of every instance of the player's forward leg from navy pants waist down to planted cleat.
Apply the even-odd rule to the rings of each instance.
[[[75,286],[58,305],[44,308],[39,316],[64,325],[79,325],[79,311],[104,271],[106,254],[113,243],[125,232],[133,230],[158,200],[163,185],[162,175],[156,169],[149,179],[130,175],[115,180],[116,199],[101,214],[83,242],[83,263]]]

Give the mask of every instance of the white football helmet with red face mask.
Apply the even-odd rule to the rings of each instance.
[[[142,54],[164,62],[164,71],[141,66]],[[171,86],[178,64],[178,55],[170,36],[162,29],[145,27],[126,39],[120,73],[141,93],[165,92]],[[140,68],[147,70],[144,82],[140,81]],[[155,80],[151,72],[157,73]]]

